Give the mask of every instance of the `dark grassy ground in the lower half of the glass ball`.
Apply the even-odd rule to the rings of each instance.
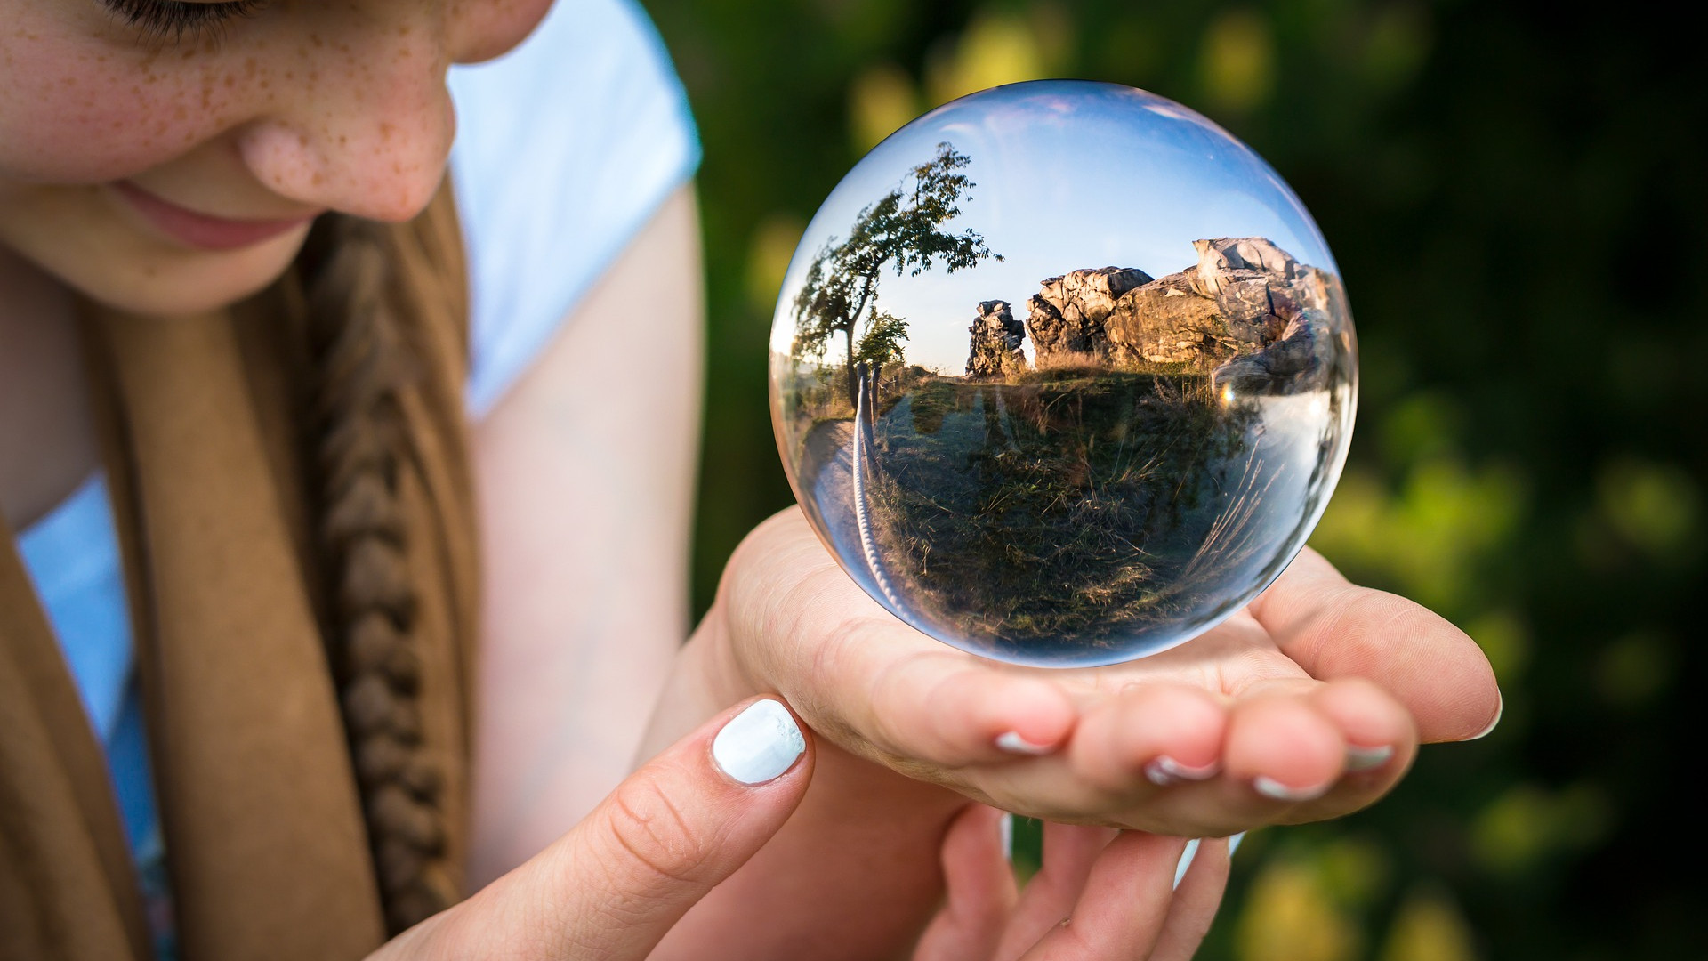
[[[880,404],[873,530],[917,614],[1015,653],[1126,643],[1249,557],[1255,412],[1190,371],[921,378]]]

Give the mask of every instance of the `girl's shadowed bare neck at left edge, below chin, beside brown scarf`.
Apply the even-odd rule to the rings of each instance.
[[[97,463],[75,299],[0,245],[0,515],[22,530]]]

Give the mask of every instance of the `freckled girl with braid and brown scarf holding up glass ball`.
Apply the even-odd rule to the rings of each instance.
[[[1225,860],[1172,898],[1146,831],[1354,811],[1498,718],[1464,634],[1313,556],[1042,674],[786,511],[678,645],[695,149],[629,7],[0,22],[7,956],[880,958],[948,877],[927,958],[1179,958]],[[1085,828],[1016,901],[968,799]]]

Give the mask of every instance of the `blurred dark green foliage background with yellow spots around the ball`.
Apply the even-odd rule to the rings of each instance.
[[[765,405],[794,243],[924,109],[1035,77],[1218,120],[1317,215],[1363,351],[1313,544],[1476,638],[1488,739],[1257,833],[1202,958],[1703,958],[1705,91],[1662,7],[646,0],[705,144],[695,593],[791,503]]]

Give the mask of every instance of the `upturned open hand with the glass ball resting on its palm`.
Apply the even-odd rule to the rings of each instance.
[[[905,626],[799,510],[741,544],[695,643],[729,694],[777,691],[868,761],[1003,811],[1182,836],[1365,807],[1419,742],[1486,734],[1501,705],[1471,638],[1308,549],[1179,648],[1027,669]]]

